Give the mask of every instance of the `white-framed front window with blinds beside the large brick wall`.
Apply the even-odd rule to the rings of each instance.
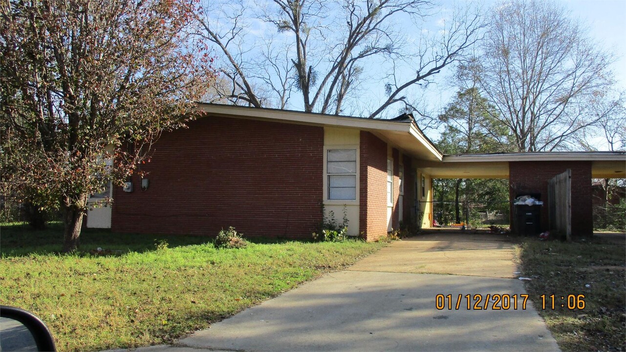
[[[356,149],[326,152],[328,199],[356,200]]]

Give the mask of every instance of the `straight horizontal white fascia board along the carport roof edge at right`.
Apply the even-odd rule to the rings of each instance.
[[[626,152],[538,152],[444,155],[443,162],[536,162],[536,161],[594,161],[626,162]]]

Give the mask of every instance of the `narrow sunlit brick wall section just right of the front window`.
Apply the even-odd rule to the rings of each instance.
[[[387,234],[387,143],[361,131],[359,233],[367,241]]]

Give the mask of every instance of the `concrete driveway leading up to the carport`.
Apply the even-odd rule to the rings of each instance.
[[[558,351],[530,299],[523,306],[513,250],[503,235],[405,239],[174,346],[138,351]],[[452,306],[436,309],[438,294]],[[473,296],[484,308],[487,294],[516,294],[518,309],[475,308]]]

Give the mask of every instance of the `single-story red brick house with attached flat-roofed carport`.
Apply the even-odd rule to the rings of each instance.
[[[541,189],[546,177],[572,168],[573,182],[588,189],[580,195],[589,199],[590,213],[594,170],[593,177],[616,177],[613,169],[624,177],[623,153],[558,165],[535,160],[536,153],[528,161],[515,153],[444,156],[411,115],[372,120],[213,104],[198,109],[202,118],[155,143],[151,162],[141,165],[146,180],[128,180],[132,192],[113,187],[113,205],[90,211],[87,227],[214,236],[233,226],[247,236],[308,239],[324,215],[338,222],[345,215],[349,235],[374,241],[400,222],[431,226],[433,178],[509,178]],[[597,158],[605,163],[594,168]],[[528,162],[545,165],[541,177],[527,177]],[[581,226],[586,207],[582,202],[575,213]]]

